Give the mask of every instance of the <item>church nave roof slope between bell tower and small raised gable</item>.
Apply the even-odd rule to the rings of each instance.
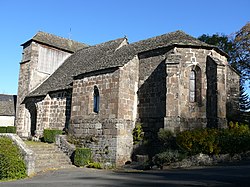
[[[95,46],[81,49],[71,55],[65,62],[29,96],[46,95],[49,91],[70,88],[73,76],[110,68],[114,62],[111,58],[115,50],[126,40],[119,38]],[[117,64],[114,66],[117,67]]]

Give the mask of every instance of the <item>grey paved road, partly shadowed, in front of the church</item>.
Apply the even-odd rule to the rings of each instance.
[[[106,171],[86,168],[41,173],[32,178],[0,182],[2,187],[105,186],[250,186],[250,162],[164,171]]]

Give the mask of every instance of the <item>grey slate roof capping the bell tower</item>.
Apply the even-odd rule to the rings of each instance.
[[[71,53],[76,52],[79,49],[88,47],[87,44],[76,42],[67,38],[62,38],[42,31],[39,31],[31,40],[25,42],[21,46],[24,46],[30,41],[36,41],[38,43],[46,44],[58,49],[69,51]]]

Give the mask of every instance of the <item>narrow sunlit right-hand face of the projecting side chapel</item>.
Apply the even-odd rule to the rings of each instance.
[[[139,59],[134,57],[120,68],[117,123],[116,164],[124,165],[131,159],[133,149],[133,129],[137,117],[137,91],[139,81]]]

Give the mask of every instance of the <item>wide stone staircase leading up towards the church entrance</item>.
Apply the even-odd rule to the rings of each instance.
[[[73,168],[69,157],[55,144],[43,142],[25,142],[35,155],[35,172],[49,169]]]

